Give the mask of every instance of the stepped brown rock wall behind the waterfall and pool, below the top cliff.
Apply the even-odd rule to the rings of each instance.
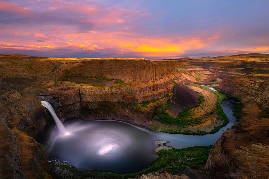
[[[134,112],[132,109],[134,108],[133,105],[121,105],[121,107],[117,107],[117,103],[139,104],[145,101],[158,100],[172,92],[172,82],[173,80],[178,79],[180,79],[179,74],[169,75],[164,79],[154,82],[115,88],[60,87],[41,92],[38,91],[35,95],[39,95],[40,100],[48,101],[54,107],[56,114],[61,120],[83,117],[81,115],[81,110],[94,110],[96,112],[97,109],[101,109],[97,104],[106,105],[110,102],[111,104],[115,104],[111,106],[111,110],[117,111],[116,114],[112,113],[111,115],[108,115],[97,113],[98,115],[87,115],[87,117],[93,119],[122,118],[126,121],[128,121],[128,118],[131,121],[139,121],[139,119],[140,121],[143,121],[151,119],[154,108],[150,108],[150,110],[144,112]]]

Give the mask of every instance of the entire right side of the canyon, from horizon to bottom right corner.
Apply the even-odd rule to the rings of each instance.
[[[218,90],[243,104],[242,118],[213,145],[206,172],[212,178],[269,178],[269,55],[182,59],[217,74]]]

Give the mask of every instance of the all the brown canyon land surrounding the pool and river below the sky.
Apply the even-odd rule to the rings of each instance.
[[[48,101],[62,122],[119,120],[162,132],[205,135],[227,124],[220,105],[227,98],[224,94],[241,101],[242,111],[235,114],[239,121],[211,150],[203,149],[210,150],[209,155],[192,149],[205,155],[203,161],[207,161],[193,165],[192,176],[269,178],[268,54],[165,60],[2,54],[0,178],[59,177],[55,172],[58,164],[45,158],[49,148],[44,143],[45,134],[54,121],[40,100]],[[181,149],[171,150],[182,154]],[[160,154],[160,158],[163,156]],[[185,162],[180,167],[191,165]],[[167,165],[136,177],[186,178],[179,168],[171,172]],[[93,178],[68,167],[62,171],[78,178]]]

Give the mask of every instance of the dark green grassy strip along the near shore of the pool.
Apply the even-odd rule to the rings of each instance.
[[[212,146],[193,146],[186,149],[169,149],[169,150],[159,150],[157,153],[159,158],[152,163],[148,168],[143,169],[137,173],[131,173],[126,175],[121,175],[118,173],[111,172],[97,172],[97,171],[84,171],[76,169],[74,167],[61,164],[59,165],[60,170],[59,179],[61,178],[96,178],[96,179],[126,179],[126,178],[138,178],[143,174],[148,174],[149,172],[169,172],[170,174],[175,174],[181,172],[186,166],[192,169],[198,169],[202,164],[205,164]],[[68,172],[64,172],[67,170]],[[70,175],[68,175],[68,173]]]

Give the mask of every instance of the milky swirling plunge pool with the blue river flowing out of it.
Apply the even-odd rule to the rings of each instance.
[[[195,136],[166,134],[120,121],[81,121],[66,127],[69,135],[52,133],[47,159],[59,158],[84,170],[117,173],[138,172],[158,158],[155,141],[169,141],[174,148],[212,145],[227,128],[236,123],[233,102],[221,102],[230,122],[215,134]],[[53,137],[54,136],[54,137]]]

